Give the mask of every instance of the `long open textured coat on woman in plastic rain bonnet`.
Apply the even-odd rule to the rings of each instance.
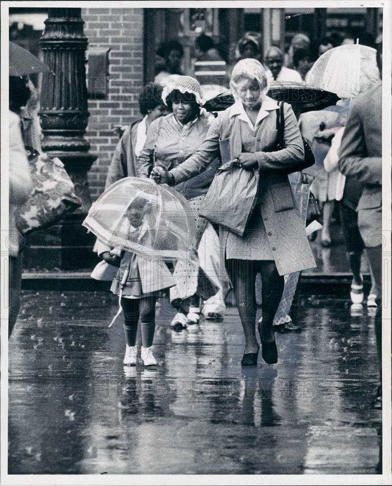
[[[305,233],[304,220],[295,205],[285,170],[303,161],[304,146],[294,113],[284,104],[285,131],[282,150],[276,149],[276,110],[265,111],[255,132],[256,158],[260,170],[257,211],[263,218],[277,270],[280,275],[316,266]],[[221,112],[212,122],[205,141],[198,151],[172,169],[175,183],[205,170],[221,147],[222,162],[234,159],[242,152],[239,115],[232,107]],[[240,201],[239,201],[240,204]],[[220,229],[221,264],[224,259],[228,230]],[[224,265],[221,267],[224,268]]]

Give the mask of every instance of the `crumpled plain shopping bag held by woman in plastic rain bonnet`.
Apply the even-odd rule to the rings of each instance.
[[[256,205],[258,180],[258,170],[245,170],[236,160],[226,162],[217,170],[199,215],[242,236]]]

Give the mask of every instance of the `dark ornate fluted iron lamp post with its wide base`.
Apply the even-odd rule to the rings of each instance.
[[[89,113],[83,24],[80,8],[50,8],[39,41],[44,62],[55,74],[44,74],[42,78],[42,149],[64,163],[83,206],[58,225],[28,236],[26,268],[84,269],[91,268],[96,259],[91,251],[95,238],[86,235],[81,226],[91,206],[87,171],[97,158],[88,153],[90,144],[84,138]]]

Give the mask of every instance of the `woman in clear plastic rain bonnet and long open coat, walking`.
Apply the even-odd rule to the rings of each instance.
[[[273,318],[284,287],[284,275],[316,266],[305,226],[295,205],[288,173],[301,170],[304,146],[294,113],[284,104],[284,148],[277,148],[278,105],[267,97],[265,70],[256,59],[243,59],[233,69],[230,87],[235,104],[211,123],[205,141],[183,163],[154,168],[162,183],[177,184],[205,170],[221,151],[222,162],[236,160],[242,169],[259,171],[256,206],[243,236],[220,227],[221,265],[226,265],[245,336],[243,366],[257,364],[256,289],[262,279],[263,319],[258,331],[266,363],[277,363]],[[241,191],[234,197],[241,205]]]

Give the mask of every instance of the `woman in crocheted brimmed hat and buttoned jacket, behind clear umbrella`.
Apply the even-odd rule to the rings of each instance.
[[[165,171],[177,167],[196,152],[208,131],[208,118],[200,109],[201,90],[196,79],[190,76],[177,77],[163,88],[162,100],[172,113],[151,123],[144,147],[137,157],[139,177],[149,177],[153,167]],[[196,247],[189,261],[177,262],[173,274],[177,285],[170,289],[170,300],[178,304],[176,308],[179,312],[172,321],[176,329],[197,323],[200,314],[199,297],[206,300],[218,291],[201,270],[197,256],[197,246],[207,226],[207,221],[198,216],[199,207],[217,167],[216,160],[202,174],[175,187],[188,200],[196,226]],[[184,299],[189,297],[191,306],[187,312],[188,306]]]

